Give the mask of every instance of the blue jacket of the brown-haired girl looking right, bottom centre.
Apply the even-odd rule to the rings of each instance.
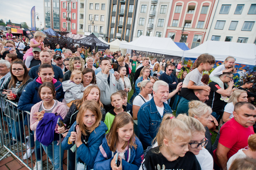
[[[122,169],[123,170],[138,170],[140,165],[144,159],[143,147],[140,140],[135,137],[135,144],[137,148],[135,149],[133,146],[128,148],[125,151],[125,160],[122,160]],[[97,154],[96,160],[94,162],[94,170],[109,170],[111,168],[111,161],[113,156],[116,154],[115,152],[110,151],[109,146],[107,145],[106,137],[102,141],[102,145],[99,147],[99,152]]]

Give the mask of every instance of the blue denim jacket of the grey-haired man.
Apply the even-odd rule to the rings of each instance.
[[[163,107],[163,115],[166,113],[172,113],[172,109],[169,105],[163,103]],[[156,136],[158,127],[162,122],[162,117],[157,111],[154,97],[140,107],[137,117],[139,139],[143,148],[146,149],[148,146],[151,146],[151,142]]]

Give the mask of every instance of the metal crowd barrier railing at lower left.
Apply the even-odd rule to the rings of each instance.
[[[7,153],[4,154],[1,158],[4,159],[8,154],[12,154],[14,157],[16,157],[17,160],[22,162],[24,166],[26,166],[28,169],[32,170],[34,168],[34,165],[37,166],[36,169],[43,169],[43,167],[46,167],[46,169],[63,169],[63,160],[60,158],[63,156],[61,153],[61,140],[59,143],[59,155],[54,156],[54,143],[55,143],[55,148],[56,148],[56,141],[53,141],[52,144],[48,147],[43,146],[41,143],[38,141],[34,141],[34,133],[30,129],[30,112],[28,111],[20,111],[17,108],[17,104],[15,102],[12,102],[10,100],[4,99],[0,97],[0,106],[1,106],[1,114],[0,114],[0,132],[1,132],[1,137],[0,137],[0,144],[1,147],[4,147],[7,149]],[[5,115],[5,113],[10,113],[8,116]],[[15,121],[15,113],[20,113],[20,116],[16,117]],[[25,123],[27,127],[25,127]],[[15,134],[15,135],[13,135]],[[32,138],[33,137],[33,138]],[[59,137],[61,135],[59,134]],[[31,139],[32,138],[32,139]],[[27,152],[27,141],[29,148],[28,150],[31,153],[31,156],[29,157],[29,154]],[[22,143],[24,142],[24,143]],[[51,151],[51,146],[52,146],[52,151]],[[34,152],[35,154],[32,155],[34,147]],[[45,149],[44,149],[44,148]],[[43,152],[46,152],[46,160],[42,160],[43,158]],[[39,153],[38,153],[39,152]],[[64,151],[63,151],[64,152]],[[67,169],[69,169],[69,152],[67,151],[64,154],[67,154]],[[75,165],[77,165],[77,160],[76,160],[76,152],[75,150]],[[52,154],[52,166],[48,162],[49,154],[51,156]],[[56,152],[55,152],[56,154]],[[86,154],[86,153],[85,153]],[[29,157],[28,159],[24,159],[24,157]],[[57,159],[57,157],[59,159]],[[34,159],[35,158],[35,159]],[[59,164],[56,163],[56,160],[60,161]],[[37,163],[38,162],[38,163]],[[34,163],[34,164],[33,164]],[[40,167],[41,164],[41,167]],[[55,166],[60,165],[59,167]],[[86,165],[84,164],[85,169]],[[72,169],[77,169],[77,166],[72,167]]]

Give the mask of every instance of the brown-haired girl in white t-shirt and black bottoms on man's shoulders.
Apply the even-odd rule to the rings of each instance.
[[[214,64],[215,58],[212,55],[201,54],[192,66],[193,71],[187,74],[182,83],[181,96],[187,100],[199,100],[193,90],[210,91],[210,87],[205,85],[201,79],[203,71],[210,71]]]

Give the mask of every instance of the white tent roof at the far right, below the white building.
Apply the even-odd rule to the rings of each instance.
[[[236,63],[255,65],[256,45],[208,40],[196,48],[184,51],[184,57],[197,58],[204,53],[213,55],[217,61],[224,61],[228,56],[233,56]]]

